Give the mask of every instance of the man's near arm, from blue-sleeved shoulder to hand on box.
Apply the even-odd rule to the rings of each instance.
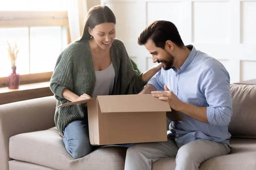
[[[213,67],[202,75],[201,91],[204,93],[208,107],[195,106],[180,101],[169,91],[153,91],[154,97],[169,102],[171,108],[181,111],[186,115],[211,125],[228,126],[232,116],[232,99],[230,94],[230,80],[224,68]]]

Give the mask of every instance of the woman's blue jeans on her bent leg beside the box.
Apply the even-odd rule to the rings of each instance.
[[[91,153],[96,146],[90,144],[89,127],[87,120],[74,120],[64,129],[65,148],[68,153],[78,159]],[[134,144],[119,144],[120,146],[132,146]]]

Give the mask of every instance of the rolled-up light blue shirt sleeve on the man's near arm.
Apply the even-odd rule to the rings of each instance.
[[[202,75],[201,91],[204,93],[209,124],[228,126],[232,117],[230,77],[224,67],[209,68]]]

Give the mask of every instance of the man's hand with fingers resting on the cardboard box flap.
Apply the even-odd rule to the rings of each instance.
[[[183,102],[172,92],[166,85],[164,85],[165,91],[152,91],[153,97],[157,97],[160,100],[165,100],[169,103],[170,107],[176,111],[180,111],[183,107]]]

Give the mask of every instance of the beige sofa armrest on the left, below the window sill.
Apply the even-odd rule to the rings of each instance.
[[[0,105],[0,170],[9,170],[9,138],[54,127],[54,96]]]

